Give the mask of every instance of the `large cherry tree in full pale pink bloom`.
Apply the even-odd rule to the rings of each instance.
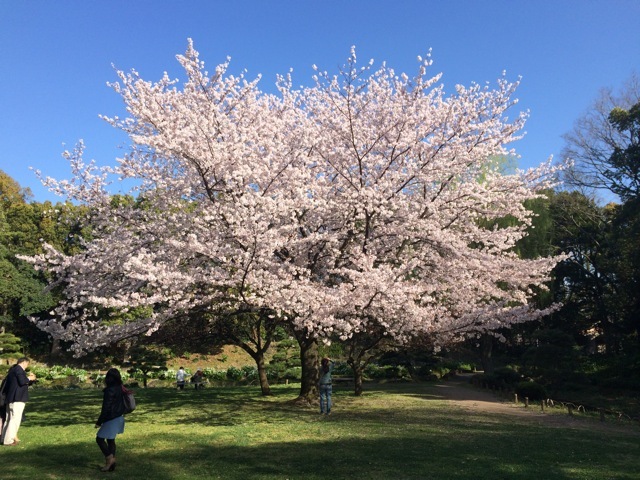
[[[558,258],[513,247],[554,169],[490,162],[514,153],[526,120],[507,117],[518,82],[447,96],[429,57],[410,78],[352,50],[339,74],[316,69],[301,89],[282,76],[269,94],[229,61],[209,74],[191,41],[177,58],[180,87],[118,72],[128,117],[105,119],[131,139],[124,158],[98,168],[80,144],[72,180],[44,179],[90,206],[82,252],[31,259],[66,295],[39,325],[78,354],[193,309],[268,310],[304,339],[308,397],[317,341],[375,329],[444,343],[548,313],[528,299]],[[137,182],[135,201],[114,202],[112,175]]]

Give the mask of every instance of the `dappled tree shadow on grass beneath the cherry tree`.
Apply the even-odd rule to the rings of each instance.
[[[364,397],[355,397],[348,389],[334,390],[334,413],[349,410],[349,415],[362,421],[381,421],[398,416],[400,412],[389,405],[395,396],[410,396],[425,401],[443,401],[446,396],[434,384],[371,384]],[[188,389],[136,389],[137,408],[126,416],[127,424],[154,423],[169,425],[198,424],[202,426],[234,426],[247,422],[287,423],[317,421],[315,406],[302,407],[290,402],[297,395],[296,386],[279,386],[276,395],[263,397],[259,389],[248,387]],[[361,411],[358,402],[372,401],[376,409]],[[65,427],[91,424],[100,413],[102,390],[36,390],[26,409],[30,425]],[[402,413],[404,416],[404,413]]]

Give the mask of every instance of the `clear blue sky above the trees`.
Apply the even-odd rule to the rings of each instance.
[[[266,91],[290,68],[294,85],[311,84],[313,64],[337,72],[352,45],[410,75],[432,49],[447,92],[522,76],[531,117],[512,147],[527,168],[558,158],[601,88],[640,73],[639,25],[638,0],[0,0],[0,169],[57,201],[29,167],[68,178],[61,153],[79,139],[87,159],[114,164],[127,138],[98,118],[123,115],[112,64],[180,77],[187,38],[209,71],[231,56]]]

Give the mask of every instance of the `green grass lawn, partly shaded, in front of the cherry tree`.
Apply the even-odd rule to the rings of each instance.
[[[18,447],[0,448],[3,480],[93,479],[640,479],[640,429],[541,426],[469,413],[430,384],[334,392],[331,416],[293,405],[297,385],[136,391],[118,466],[93,427],[101,391],[31,392]],[[590,423],[590,425],[591,425]]]

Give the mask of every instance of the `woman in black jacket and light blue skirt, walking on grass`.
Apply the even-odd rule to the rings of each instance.
[[[124,399],[120,371],[110,368],[104,381],[106,387],[103,390],[102,409],[96,422],[96,428],[100,428],[96,442],[105,457],[105,465],[101,470],[112,472],[116,468],[116,435],[124,433]]]

